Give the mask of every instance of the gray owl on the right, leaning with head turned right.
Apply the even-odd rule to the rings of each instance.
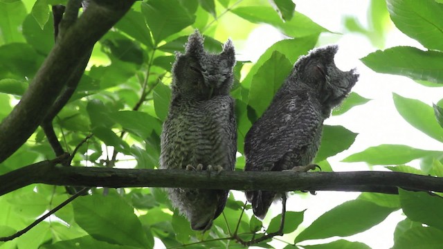
[[[246,171],[306,172],[320,145],[323,121],[350,93],[359,75],[334,64],[338,46],[301,56],[268,109],[246,134]],[[264,219],[275,192],[247,191],[255,216]]]

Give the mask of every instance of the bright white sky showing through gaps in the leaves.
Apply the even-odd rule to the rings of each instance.
[[[407,77],[375,73],[359,61],[361,57],[365,57],[377,48],[374,48],[368,38],[363,35],[348,33],[344,29],[343,18],[345,16],[357,17],[359,22],[367,27],[366,13],[369,1],[300,0],[295,2],[298,12],[307,15],[307,17],[328,30],[344,34],[323,34],[320,37],[319,45],[334,43],[340,46],[340,50],[336,55],[336,65],[342,70],[356,67],[360,73],[360,78],[353,91],[365,98],[372,99],[367,104],[355,107],[342,116],[329,118],[325,122],[326,124],[340,124],[353,132],[359,133],[349,150],[329,158],[329,163],[331,163],[334,171],[368,170],[365,163],[341,163],[341,160],[350,154],[375,145],[401,144],[420,149],[441,150],[442,144],[440,142],[413,128],[399,116],[392,101],[392,93],[397,93],[406,98],[415,98],[431,105],[443,98],[443,88],[425,87]],[[240,48],[239,53],[247,59],[256,61],[266,48],[280,39],[284,39],[284,37],[275,28],[260,26],[251,33],[246,41],[244,47],[250,49],[241,50]],[[387,37],[386,48],[392,46],[415,46],[424,49],[418,42],[406,37],[393,25]],[[408,165],[417,167],[418,163],[413,162]],[[383,167],[375,167],[375,169],[382,170]],[[343,201],[355,199],[358,195],[359,193],[347,192],[318,192],[316,196],[296,194],[289,198],[288,210],[306,210],[305,221],[302,223],[302,226],[306,227],[327,210],[331,210]],[[236,192],[235,196],[241,198],[242,193]],[[268,217],[279,214],[280,210],[280,203],[273,205],[272,214]],[[380,225],[346,239],[362,241],[374,249],[390,248],[393,245],[392,234],[395,226],[402,219],[404,219],[404,216],[402,216],[401,211],[397,211],[388,216]],[[335,241],[336,239],[339,238],[312,242],[327,243],[327,241]],[[283,240],[292,242],[293,236],[286,235]],[[285,245],[284,243],[274,243],[277,248]]]

